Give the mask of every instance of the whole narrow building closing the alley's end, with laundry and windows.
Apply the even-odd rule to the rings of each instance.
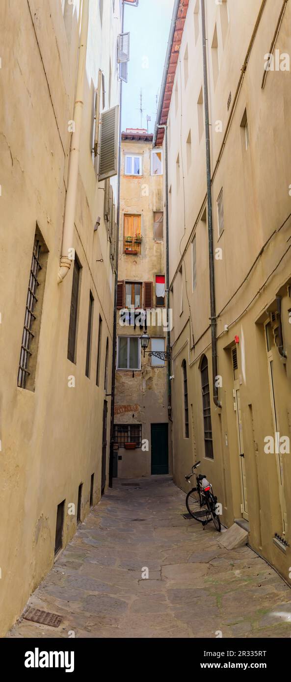
[[[114,475],[166,474],[166,351],[163,152],[147,130],[121,135]],[[142,351],[140,337],[150,337]]]

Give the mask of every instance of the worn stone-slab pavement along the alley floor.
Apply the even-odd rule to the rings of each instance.
[[[185,511],[170,477],[115,481],[29,599],[61,625],[20,619],[8,637],[290,638],[287,584]]]

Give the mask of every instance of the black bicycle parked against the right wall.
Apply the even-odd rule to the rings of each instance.
[[[192,466],[192,473],[185,476],[186,481],[190,481],[192,476],[194,476],[194,470],[197,466],[200,466],[201,462],[197,462]],[[213,489],[209,481],[207,481],[204,474],[196,473],[196,488],[189,490],[186,497],[186,507],[189,514],[196,521],[200,521],[202,526],[206,526],[207,523],[213,521],[216,530],[220,533],[221,523],[220,518],[216,511],[217,497],[213,494]]]

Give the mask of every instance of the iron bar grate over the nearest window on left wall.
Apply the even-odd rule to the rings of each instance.
[[[29,276],[29,287],[27,291],[27,305],[25,309],[25,324],[22,333],[22,343],[20,350],[20,360],[18,368],[18,381],[17,385],[20,388],[25,388],[27,383],[27,376],[30,372],[28,369],[29,358],[31,357],[31,351],[29,350],[31,339],[33,339],[33,332],[31,331],[33,327],[33,322],[35,321],[35,314],[33,310],[35,309],[35,303],[37,303],[37,286],[40,282],[37,280],[38,273],[42,269],[40,265],[40,252],[42,246],[39,237],[35,237],[33,245],[33,256],[31,261],[31,271]]]

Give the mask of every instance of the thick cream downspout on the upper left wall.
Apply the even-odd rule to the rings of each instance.
[[[63,221],[63,243],[61,247],[61,261],[58,273],[58,284],[61,284],[74,261],[74,222],[76,211],[76,195],[78,186],[78,170],[80,155],[80,136],[82,128],[82,113],[84,106],[84,81],[86,70],[87,40],[89,25],[89,0],[82,0],[82,19],[78,55],[78,71],[76,83],[76,100],[74,104],[74,130],[72,132],[70,148],[70,168],[65,199],[65,218]]]

